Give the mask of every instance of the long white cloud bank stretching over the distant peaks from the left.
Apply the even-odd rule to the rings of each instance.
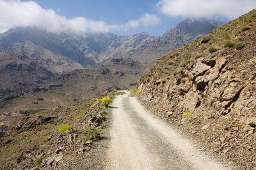
[[[156,15],[146,13],[138,20],[131,20],[125,24],[108,25],[104,21],[90,20],[85,17],[67,18],[58,15],[52,9],[44,9],[33,1],[0,0],[0,32],[17,26],[40,27],[51,32],[108,32],[113,30],[127,30],[141,25],[159,24]]]

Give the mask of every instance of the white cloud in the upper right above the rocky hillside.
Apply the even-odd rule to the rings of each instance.
[[[234,19],[256,8],[255,0],[161,0],[157,3],[160,11],[171,17],[214,16]]]

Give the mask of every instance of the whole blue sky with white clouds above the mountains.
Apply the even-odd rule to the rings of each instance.
[[[162,36],[186,18],[227,21],[255,8],[255,0],[0,0],[0,32],[31,26],[51,32]]]

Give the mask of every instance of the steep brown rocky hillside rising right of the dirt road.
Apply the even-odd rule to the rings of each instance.
[[[256,166],[256,10],[168,53],[137,94],[159,117],[237,169]]]

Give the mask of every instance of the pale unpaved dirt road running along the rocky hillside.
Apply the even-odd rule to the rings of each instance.
[[[112,106],[108,169],[227,169],[150,115],[136,97],[117,96]]]

